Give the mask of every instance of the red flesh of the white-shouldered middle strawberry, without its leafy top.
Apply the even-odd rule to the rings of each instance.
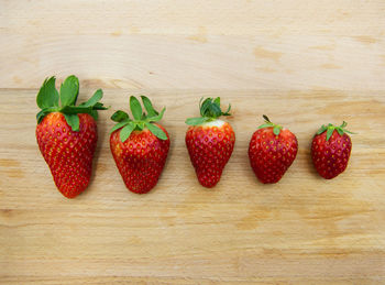
[[[224,122],[221,127],[189,127],[186,145],[199,183],[207,188],[218,184],[235,144],[235,133]]]

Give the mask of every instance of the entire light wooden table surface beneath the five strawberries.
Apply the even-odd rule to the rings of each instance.
[[[92,180],[55,188],[35,141],[43,79],[103,88]],[[109,150],[109,117],[144,94],[167,107],[166,167],[129,193]],[[0,0],[0,282],[385,283],[385,2]],[[237,142],[202,188],[185,147],[200,97],[231,102]],[[276,185],[258,183],[248,144],[261,116],[298,138]],[[349,122],[353,150],[332,180],[309,145]]]

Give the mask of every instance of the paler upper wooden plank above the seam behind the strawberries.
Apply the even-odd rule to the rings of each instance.
[[[381,0],[0,7],[2,88],[76,74],[98,88],[385,89]]]

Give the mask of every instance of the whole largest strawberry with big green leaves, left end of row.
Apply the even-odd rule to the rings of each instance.
[[[55,80],[45,79],[37,94],[36,102],[42,110],[36,116],[36,140],[56,187],[65,197],[74,198],[89,184],[98,140],[97,110],[107,108],[98,102],[101,89],[87,102],[75,106],[78,78],[67,77],[59,94]]]

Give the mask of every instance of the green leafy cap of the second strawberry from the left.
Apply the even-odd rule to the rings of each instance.
[[[152,132],[156,138],[161,140],[167,140],[166,133],[154,122],[161,121],[162,117],[164,114],[164,111],[166,108],[163,108],[161,113],[158,113],[150,99],[145,96],[141,96],[144,109],[147,111],[147,113],[143,112],[142,106],[140,101],[134,97],[130,97],[130,109],[131,113],[133,116],[133,120],[130,119],[130,116],[124,111],[116,111],[111,120],[117,122],[117,124],[111,129],[110,133],[113,133],[114,131],[122,129],[120,131],[120,140],[122,142],[125,142],[127,139],[129,139],[130,134],[138,130],[142,131],[143,129],[147,128],[150,132]]]

